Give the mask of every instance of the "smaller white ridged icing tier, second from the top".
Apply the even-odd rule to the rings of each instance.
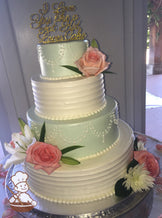
[[[68,80],[32,78],[35,112],[49,120],[86,117],[105,105],[103,75]]]

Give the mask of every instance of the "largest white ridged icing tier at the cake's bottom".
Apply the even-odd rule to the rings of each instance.
[[[30,189],[41,198],[63,204],[91,202],[113,195],[115,182],[123,177],[133,155],[132,129],[123,121],[119,122],[119,129],[119,142],[112,149],[80,165],[62,164],[47,175],[25,163]]]

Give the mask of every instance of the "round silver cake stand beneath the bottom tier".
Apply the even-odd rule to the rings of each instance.
[[[5,181],[8,198],[12,196],[10,190],[15,191],[11,177],[18,171],[25,171],[23,164],[13,165],[8,171]],[[54,203],[36,196],[30,190],[28,194],[37,204],[31,211],[19,212],[24,218],[148,218],[153,203],[153,189],[132,193],[126,198],[113,195],[105,199],[81,204]]]

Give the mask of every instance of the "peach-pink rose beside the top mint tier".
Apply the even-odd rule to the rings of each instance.
[[[110,63],[105,59],[106,56],[97,48],[89,47],[75,64],[83,75],[96,76],[109,67]]]

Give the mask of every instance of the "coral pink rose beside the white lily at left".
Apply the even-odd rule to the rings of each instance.
[[[34,164],[35,169],[42,169],[51,174],[60,167],[62,153],[57,146],[44,142],[35,142],[27,150],[26,161]]]

